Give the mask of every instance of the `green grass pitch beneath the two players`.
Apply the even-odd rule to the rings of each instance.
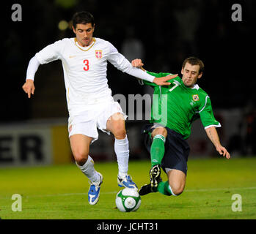
[[[129,173],[140,187],[148,183],[149,161],[131,161]],[[117,163],[95,162],[103,174],[100,200],[89,205],[89,183],[73,165],[2,168],[1,219],[256,219],[256,157],[189,159],[186,188],[178,197],[152,193],[139,210],[115,208]],[[165,181],[166,175],[162,172]],[[22,196],[22,211],[12,211],[13,194]],[[241,195],[234,212],[232,196]]]

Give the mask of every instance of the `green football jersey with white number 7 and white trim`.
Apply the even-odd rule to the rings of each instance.
[[[147,72],[156,78],[170,73]],[[153,86],[153,104],[151,108],[151,123],[158,123],[174,130],[187,139],[191,135],[191,124],[197,118],[203,127],[221,127],[214,118],[211,100],[208,94],[198,85],[188,88],[180,77],[168,81],[169,86],[158,86],[143,80],[143,83]]]

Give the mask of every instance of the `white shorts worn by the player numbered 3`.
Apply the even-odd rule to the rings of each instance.
[[[107,134],[106,122],[114,113],[122,113],[126,119],[128,116],[122,112],[118,102],[106,102],[99,105],[93,105],[90,110],[83,111],[76,116],[68,118],[69,137],[75,134],[82,134],[92,137],[92,143],[98,140],[98,129]]]

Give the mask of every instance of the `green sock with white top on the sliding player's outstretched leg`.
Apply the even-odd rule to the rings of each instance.
[[[164,143],[165,137],[163,135],[156,135],[153,138],[153,143],[150,148],[151,166],[161,164],[164,157]]]

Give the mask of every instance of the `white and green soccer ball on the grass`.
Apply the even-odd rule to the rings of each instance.
[[[136,211],[142,200],[136,189],[122,189],[117,193],[116,205],[117,208],[122,212]]]

